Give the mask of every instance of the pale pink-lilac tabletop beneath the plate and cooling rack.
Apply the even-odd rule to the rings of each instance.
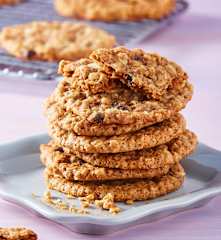
[[[189,73],[195,95],[184,114],[200,141],[221,149],[221,1],[193,0],[175,24],[136,47],[180,63]],[[42,102],[52,82],[0,77],[0,141],[46,131]],[[144,224],[108,236],[72,233],[27,210],[0,200],[0,226],[22,225],[49,239],[221,239],[221,196],[199,209]]]

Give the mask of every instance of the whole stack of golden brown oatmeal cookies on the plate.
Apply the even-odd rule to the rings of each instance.
[[[181,67],[118,47],[62,61],[59,73],[45,104],[52,140],[41,145],[49,189],[135,201],[181,187],[180,161],[197,144],[179,113],[193,94]]]

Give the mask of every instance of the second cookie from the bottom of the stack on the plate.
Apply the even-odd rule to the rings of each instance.
[[[64,153],[60,148],[56,149],[50,144],[41,145],[41,161],[53,175],[72,181],[151,179],[167,174],[170,169],[170,165],[148,170],[95,167],[79,159],[76,155]]]

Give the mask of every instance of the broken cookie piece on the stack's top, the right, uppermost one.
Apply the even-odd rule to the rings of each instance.
[[[129,88],[140,90],[153,99],[163,98],[171,89],[182,89],[188,80],[186,72],[175,62],[141,49],[97,49],[90,58]]]

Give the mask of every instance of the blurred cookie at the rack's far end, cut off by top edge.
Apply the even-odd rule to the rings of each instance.
[[[174,9],[175,0],[54,0],[63,16],[101,21],[161,19]]]

